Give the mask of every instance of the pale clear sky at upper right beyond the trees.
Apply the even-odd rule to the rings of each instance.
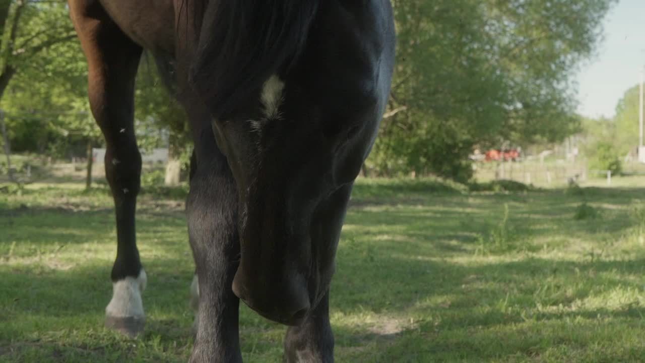
[[[578,112],[588,117],[615,115],[628,88],[645,66],[645,0],[620,0],[604,20],[604,40],[577,75]]]

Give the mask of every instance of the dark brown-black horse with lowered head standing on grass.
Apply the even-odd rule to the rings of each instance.
[[[240,362],[239,299],[289,325],[287,362],[332,362],[329,287],[394,61],[388,0],[68,0],[107,145],[117,257],[106,324],[143,329],[135,243],[144,49],[186,109],[195,260],[192,362]]]

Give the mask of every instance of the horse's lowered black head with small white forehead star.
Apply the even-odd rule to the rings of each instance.
[[[319,9],[297,61],[213,121],[239,193],[233,292],[284,324],[300,324],[328,291],[352,184],[390,89],[387,17],[343,11]]]

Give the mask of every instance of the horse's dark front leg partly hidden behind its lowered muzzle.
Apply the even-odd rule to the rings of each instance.
[[[333,333],[329,322],[329,291],[301,326],[287,329],[284,362],[333,362]]]

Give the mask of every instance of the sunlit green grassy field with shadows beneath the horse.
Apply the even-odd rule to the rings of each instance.
[[[359,180],[332,284],[336,361],[644,362],[639,184],[472,192]],[[0,191],[0,362],[185,362],[184,192],[140,197],[148,322],[128,340],[103,327],[115,254],[107,190]],[[244,306],[240,324],[246,362],[281,360],[283,326]]]

